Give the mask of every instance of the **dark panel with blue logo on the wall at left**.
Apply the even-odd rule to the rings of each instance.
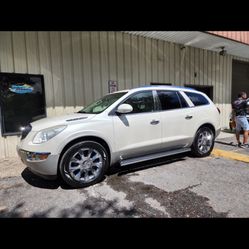
[[[46,117],[42,75],[0,73],[2,135],[17,135],[20,128]]]

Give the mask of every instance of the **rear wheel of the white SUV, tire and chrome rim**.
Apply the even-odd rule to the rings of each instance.
[[[214,132],[209,127],[201,127],[192,144],[192,154],[196,157],[209,156],[214,147]]]

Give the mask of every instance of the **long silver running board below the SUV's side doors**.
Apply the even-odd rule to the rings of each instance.
[[[155,153],[151,155],[146,155],[146,156],[141,156],[141,157],[135,157],[131,159],[124,159],[120,162],[121,166],[126,166],[134,163],[139,163],[139,162],[144,162],[156,158],[161,158],[161,157],[166,157],[166,156],[172,156],[176,154],[181,154],[184,152],[189,152],[191,151],[190,148],[182,148],[182,149],[177,149],[177,150],[171,150],[171,151],[166,151],[166,152],[160,152],[160,153]]]

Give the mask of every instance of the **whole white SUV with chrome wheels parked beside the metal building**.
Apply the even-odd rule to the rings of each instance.
[[[73,187],[100,181],[107,168],[187,151],[208,156],[219,135],[219,112],[202,92],[148,86],[108,94],[78,113],[44,118],[22,132],[17,151],[44,177]]]

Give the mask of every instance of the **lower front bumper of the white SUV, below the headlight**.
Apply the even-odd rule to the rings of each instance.
[[[35,174],[49,178],[57,175],[58,161],[60,155],[49,154],[47,159],[31,161],[29,154],[32,152],[21,149],[17,146],[17,153],[22,162]]]

